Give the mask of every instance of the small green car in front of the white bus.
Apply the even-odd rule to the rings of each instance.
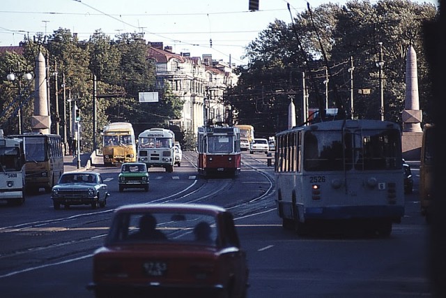
[[[144,188],[148,191],[149,179],[145,163],[123,163],[118,175],[119,192],[125,188]]]

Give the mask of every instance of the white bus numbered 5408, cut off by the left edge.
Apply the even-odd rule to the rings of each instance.
[[[25,174],[23,140],[4,137],[0,129],[0,201],[24,203]]]

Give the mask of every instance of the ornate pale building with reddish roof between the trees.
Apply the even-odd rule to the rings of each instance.
[[[237,83],[232,66],[214,61],[208,54],[190,57],[189,53],[175,54],[163,43],[150,45],[148,59],[155,62],[156,89],[162,90],[164,84],[169,84],[184,101],[182,116],[171,119],[169,124],[197,133],[204,124],[226,122],[231,107],[224,105],[224,91]]]

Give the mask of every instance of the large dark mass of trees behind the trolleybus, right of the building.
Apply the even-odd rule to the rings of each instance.
[[[431,113],[431,80],[426,64],[422,25],[438,11],[428,3],[383,0],[327,3],[305,10],[290,24],[275,20],[246,49],[247,67],[238,68],[238,85],[225,100],[236,114],[236,123],[252,124],[268,135],[288,126],[288,107],[296,107],[301,124],[302,84],[309,89],[309,107],[325,103],[325,69],[329,75],[329,107],[336,102],[350,106],[351,58],[355,117],[379,119],[379,44],[383,43],[385,119],[402,124],[406,88],[406,52],[417,52],[420,108]],[[325,58],[327,61],[325,61]],[[328,68],[326,68],[328,67]],[[370,94],[358,91],[369,89]],[[424,117],[429,119],[429,117]],[[427,120],[426,120],[427,121]]]

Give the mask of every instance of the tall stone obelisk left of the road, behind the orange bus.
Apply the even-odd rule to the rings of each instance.
[[[31,118],[33,133],[49,133],[51,118],[47,98],[46,62],[42,52],[36,57],[36,96],[34,97],[34,115]]]

